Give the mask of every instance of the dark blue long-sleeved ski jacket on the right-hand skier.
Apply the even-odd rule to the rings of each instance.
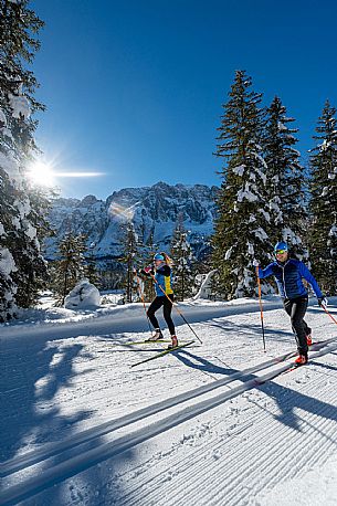
[[[323,297],[315,277],[299,260],[288,259],[285,263],[275,261],[265,268],[259,267],[259,277],[264,278],[268,276],[275,277],[278,293],[282,298],[307,296],[307,289],[303,284],[303,278],[312,285],[317,298]]]

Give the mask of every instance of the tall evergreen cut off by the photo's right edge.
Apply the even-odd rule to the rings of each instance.
[[[327,101],[318,118],[319,144],[310,156],[312,226],[308,244],[313,273],[327,295],[337,295],[337,127]]]

